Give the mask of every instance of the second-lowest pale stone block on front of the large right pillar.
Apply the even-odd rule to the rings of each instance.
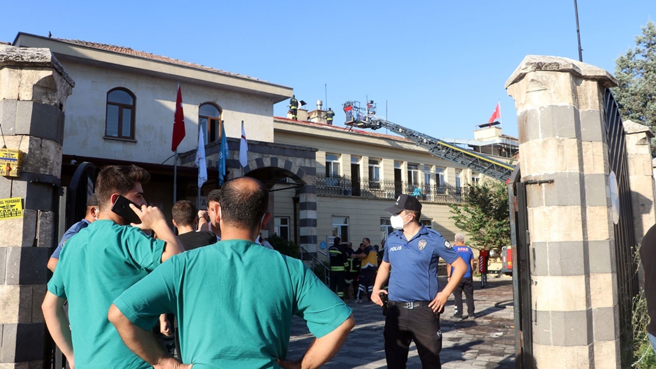
[[[581,311],[586,309],[585,276],[533,276],[533,309]],[[558,292],[558,293],[555,293]]]

